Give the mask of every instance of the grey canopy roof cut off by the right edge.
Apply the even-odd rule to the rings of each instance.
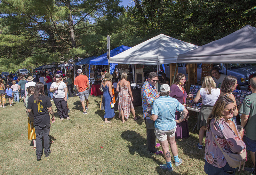
[[[245,26],[219,40],[178,55],[177,63],[256,63],[256,28]]]

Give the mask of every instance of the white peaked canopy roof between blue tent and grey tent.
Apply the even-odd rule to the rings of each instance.
[[[197,47],[197,45],[160,34],[111,57],[109,62],[146,65],[176,63],[179,54]]]

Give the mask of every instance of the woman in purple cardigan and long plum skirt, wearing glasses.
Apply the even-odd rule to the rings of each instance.
[[[186,107],[186,98],[190,96],[193,97],[193,94],[187,95],[185,91],[184,84],[186,83],[186,76],[184,74],[177,74],[174,79],[174,83],[170,86],[170,96],[177,99],[181,104]],[[175,112],[175,119],[179,120],[180,112]],[[177,123],[177,129],[175,133],[175,139],[182,139],[189,137],[188,132],[188,120],[185,119],[181,123]]]

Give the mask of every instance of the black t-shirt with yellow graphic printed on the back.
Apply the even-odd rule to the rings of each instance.
[[[51,123],[48,107],[52,107],[48,96],[40,94],[38,103],[34,100],[34,95],[28,98],[28,109],[32,109],[34,112],[34,125],[46,125]]]

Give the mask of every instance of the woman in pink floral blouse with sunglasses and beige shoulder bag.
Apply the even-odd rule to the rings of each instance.
[[[228,153],[243,153],[245,144],[241,140],[244,132],[239,134],[235,124],[229,120],[233,117],[236,106],[234,101],[226,96],[217,99],[212,113],[207,120],[207,132],[205,137],[204,171],[208,175],[213,174],[235,174],[235,168],[231,168],[220,148]]]

